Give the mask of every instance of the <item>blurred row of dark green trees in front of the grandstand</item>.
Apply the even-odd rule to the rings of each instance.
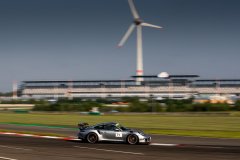
[[[235,105],[227,103],[211,104],[194,103],[193,99],[173,100],[153,100],[148,99],[141,102],[138,97],[123,97],[121,102],[130,103],[129,107],[107,107],[104,104],[117,103],[119,101],[97,99],[96,101],[82,101],[81,98],[73,100],[60,99],[57,103],[49,104],[47,102],[36,104],[35,111],[89,111],[92,107],[99,107],[99,111],[119,111],[119,112],[209,112],[209,111],[240,111],[240,101]],[[163,105],[164,104],[164,105]]]

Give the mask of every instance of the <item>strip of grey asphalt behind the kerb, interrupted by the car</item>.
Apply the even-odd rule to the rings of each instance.
[[[29,131],[37,133],[55,133],[67,135],[76,138],[78,130],[64,128],[48,128],[35,126],[22,126],[11,124],[0,124],[0,129],[11,131]],[[201,137],[183,137],[167,135],[151,135],[153,143],[169,144],[187,144],[187,145],[207,145],[207,146],[240,146],[240,139],[223,139],[223,138],[201,138]]]

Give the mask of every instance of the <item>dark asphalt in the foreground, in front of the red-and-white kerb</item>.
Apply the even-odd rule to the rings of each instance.
[[[195,148],[128,145],[116,143],[88,144],[81,141],[0,135],[0,159],[239,159],[240,148]]]

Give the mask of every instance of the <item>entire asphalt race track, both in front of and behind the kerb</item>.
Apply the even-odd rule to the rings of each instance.
[[[76,137],[78,130],[0,124],[0,129]],[[151,135],[154,143],[188,146],[89,144],[81,141],[0,134],[0,160],[58,159],[240,159],[240,140]]]

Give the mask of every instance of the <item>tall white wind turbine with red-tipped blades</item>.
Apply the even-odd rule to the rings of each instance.
[[[121,42],[118,44],[118,49],[120,49],[122,47],[122,45],[124,44],[124,42],[127,40],[127,38],[129,37],[129,35],[132,33],[133,29],[135,28],[135,26],[137,26],[137,63],[136,63],[136,75],[143,75],[143,60],[142,60],[142,26],[148,26],[148,27],[155,27],[155,28],[162,28],[160,26],[156,26],[153,24],[149,24],[149,23],[144,23],[135,7],[134,4],[132,2],[132,0],[128,0],[130,9],[132,11],[133,14],[133,18],[134,21],[133,23],[130,25],[128,31],[126,32],[126,34],[123,36]],[[143,81],[143,78],[137,78],[137,84],[140,85],[141,81]]]

